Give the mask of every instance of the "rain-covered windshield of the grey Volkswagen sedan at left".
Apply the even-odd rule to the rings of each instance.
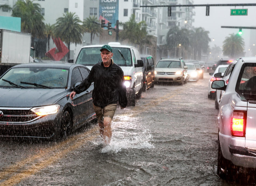
[[[51,88],[65,88],[67,86],[68,69],[61,68],[11,68],[0,79],[0,87],[15,88],[9,82],[26,88],[40,88],[26,83],[35,83]],[[5,79],[9,82],[6,82]],[[42,87],[41,87],[42,88]]]

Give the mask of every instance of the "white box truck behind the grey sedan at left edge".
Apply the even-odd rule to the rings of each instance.
[[[31,34],[0,29],[0,75],[14,65],[33,62],[30,46]]]

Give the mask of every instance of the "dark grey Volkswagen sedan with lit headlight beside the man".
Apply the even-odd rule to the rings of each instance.
[[[90,70],[78,64],[29,63],[0,77],[0,136],[59,138],[96,118],[92,85],[69,95]]]

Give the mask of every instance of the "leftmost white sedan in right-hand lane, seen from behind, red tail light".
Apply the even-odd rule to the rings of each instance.
[[[209,82],[208,82],[208,98],[215,98],[215,95],[216,95],[216,90],[211,88],[211,83],[215,80],[220,80],[221,78],[216,78],[214,77],[215,74],[221,72],[222,76],[224,75],[224,72],[226,71],[227,67],[229,65],[225,64],[225,65],[219,65],[215,71],[213,73],[209,73],[211,75],[211,78],[209,79]]]

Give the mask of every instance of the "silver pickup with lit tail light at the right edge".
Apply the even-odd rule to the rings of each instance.
[[[218,114],[217,173],[237,179],[256,168],[256,57],[240,58],[229,83],[216,80],[212,88],[225,90]]]

